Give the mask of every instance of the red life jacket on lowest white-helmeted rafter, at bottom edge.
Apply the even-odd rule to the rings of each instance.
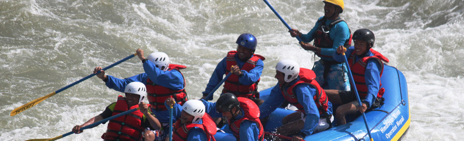
[[[216,134],[216,123],[214,123],[214,121],[208,113],[205,113],[205,115],[201,117],[201,120],[203,121],[202,124],[188,123],[183,125],[181,125],[181,120],[177,120],[174,124],[174,133],[172,134],[172,140],[187,140],[190,128],[199,127],[203,129],[203,131],[205,131],[206,138],[208,141],[215,141],[216,139],[213,135]]]

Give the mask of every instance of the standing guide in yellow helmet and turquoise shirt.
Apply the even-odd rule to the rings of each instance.
[[[289,32],[292,37],[299,36],[305,42],[300,43],[302,48],[314,51],[321,58],[314,62],[312,70],[316,74],[316,81],[323,89],[350,90],[346,66],[332,58],[338,46],[351,46],[350,29],[339,17],[344,8],[343,0],[323,2],[324,16],[317,20],[308,34],[302,34],[296,29]],[[309,44],[312,40],[314,45]]]

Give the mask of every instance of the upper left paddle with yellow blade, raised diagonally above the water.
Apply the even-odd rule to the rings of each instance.
[[[124,58],[124,59],[122,59],[122,60],[120,60],[120,61],[117,61],[117,62],[115,62],[115,63],[113,63],[113,64],[111,64],[111,65],[109,65],[109,66],[106,66],[105,68],[103,68],[103,70],[107,70],[107,69],[109,69],[109,68],[111,68],[111,67],[113,67],[113,66],[115,66],[115,65],[118,65],[118,64],[120,64],[120,63],[122,63],[122,62],[124,62],[124,61],[126,61],[126,60],[128,60],[128,59],[130,59],[130,58],[132,58],[132,57],[134,57],[134,56],[137,56],[137,53],[132,54],[132,55],[129,55],[128,57],[126,57],[126,58]],[[101,73],[100,71],[97,72],[97,74],[100,74],[100,73]],[[81,79],[81,80],[78,80],[78,81],[76,81],[76,82],[74,82],[74,83],[72,83],[72,84],[70,84],[70,85],[68,85],[68,86],[66,86],[66,87],[61,88],[61,89],[58,90],[58,91],[52,92],[52,93],[50,93],[50,94],[48,94],[48,95],[46,95],[46,96],[44,96],[44,97],[35,99],[35,100],[33,100],[33,101],[31,101],[31,102],[29,102],[29,103],[27,103],[27,104],[24,104],[23,106],[18,107],[18,108],[16,108],[16,109],[14,109],[13,111],[11,111],[10,116],[14,116],[14,115],[16,115],[16,114],[18,114],[18,113],[20,113],[20,112],[26,110],[26,109],[29,109],[29,108],[31,108],[31,107],[33,107],[33,106],[39,104],[39,103],[42,102],[43,100],[45,100],[45,99],[47,99],[47,98],[49,98],[49,97],[51,97],[51,96],[53,96],[53,95],[55,95],[55,94],[57,94],[57,93],[60,93],[61,91],[64,91],[64,90],[66,90],[66,89],[68,89],[68,88],[70,88],[70,87],[73,87],[74,85],[76,85],[76,84],[78,84],[78,83],[81,83],[81,82],[83,82],[83,81],[85,81],[85,80],[87,80],[87,79],[89,79],[89,78],[91,78],[91,77],[93,77],[93,76],[95,76],[95,75],[96,75],[96,74],[91,74],[91,75],[89,75],[89,76],[87,76],[87,77],[85,77],[85,78],[83,78],[83,79]]]

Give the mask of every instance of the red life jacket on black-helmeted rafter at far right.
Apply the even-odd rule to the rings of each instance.
[[[355,54],[355,51],[353,51],[353,53],[351,53],[350,57],[347,60],[350,63],[351,72],[353,74],[353,80],[355,81],[356,89],[358,90],[358,94],[360,98],[366,98],[367,92],[368,92],[367,85],[366,85],[366,79],[364,78],[364,75],[366,74],[367,61],[369,59],[375,59],[380,63],[380,66],[381,66],[381,69],[379,72],[380,77],[382,77],[382,73],[383,73],[383,62],[382,61],[389,62],[388,58],[386,58],[379,52],[375,51],[374,49],[371,48],[370,51],[374,54],[373,56],[363,57],[356,62],[354,59],[356,54]],[[382,83],[380,83],[380,86],[382,86]],[[385,89],[380,88],[379,92],[377,92],[377,98],[381,98],[383,96],[383,93],[385,93]]]

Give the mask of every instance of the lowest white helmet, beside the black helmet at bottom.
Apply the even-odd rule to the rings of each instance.
[[[198,124],[200,119],[205,115],[205,105],[200,100],[191,99],[184,103],[182,110],[193,115],[192,123]]]

